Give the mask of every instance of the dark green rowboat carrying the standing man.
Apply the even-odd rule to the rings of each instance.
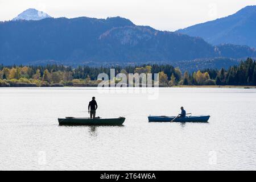
[[[122,125],[125,118],[58,118],[59,125]]]

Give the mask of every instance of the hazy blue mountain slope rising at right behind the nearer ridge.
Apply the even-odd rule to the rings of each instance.
[[[256,6],[246,6],[233,15],[196,24],[177,32],[200,36],[213,45],[230,43],[256,48]]]

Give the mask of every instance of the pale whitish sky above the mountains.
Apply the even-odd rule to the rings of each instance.
[[[175,31],[236,13],[255,0],[0,0],[0,21],[28,8],[53,16],[108,18],[121,16],[134,24]]]

